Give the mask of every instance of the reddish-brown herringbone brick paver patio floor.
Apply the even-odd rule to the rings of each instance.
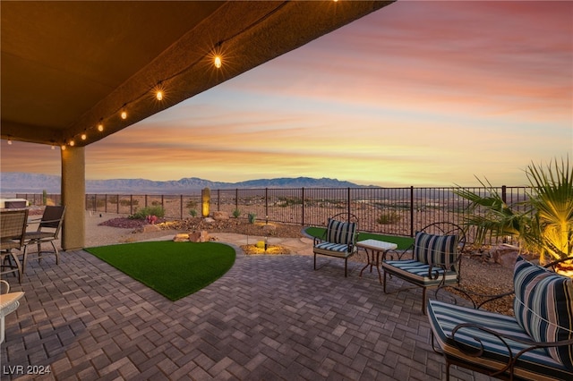
[[[158,253],[159,255],[159,253]],[[237,255],[214,284],[179,301],[89,253],[30,261],[20,308],[6,318],[4,379],[432,380],[421,292],[384,294],[360,264]],[[391,285],[402,286],[392,279]],[[40,377],[26,375],[49,367]],[[22,374],[23,373],[23,374]],[[452,379],[489,379],[451,368]]]

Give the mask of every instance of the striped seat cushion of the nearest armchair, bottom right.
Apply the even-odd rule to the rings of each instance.
[[[498,313],[486,311],[483,309],[471,309],[461,307],[441,301],[431,300],[428,303],[428,318],[434,338],[437,340],[440,348],[448,357],[453,357],[460,361],[470,364],[481,365],[483,368],[500,369],[503,368],[508,360],[509,354],[506,346],[492,334],[478,330],[474,327],[460,329],[452,338],[452,330],[461,323],[473,323],[479,326],[485,326],[492,330],[504,334],[510,334],[518,339],[531,340],[529,335],[517,323],[515,318],[501,315]],[[477,343],[474,337],[479,338],[483,343],[483,354],[479,357],[460,351],[459,345],[466,348],[477,350],[480,343]],[[526,344],[517,343],[512,340],[506,340],[513,354],[528,347]],[[515,376],[526,379],[571,379],[573,374],[558,361],[553,360],[541,348],[533,351],[526,351],[521,355],[515,368]]]

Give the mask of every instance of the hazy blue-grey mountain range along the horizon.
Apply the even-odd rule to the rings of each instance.
[[[211,182],[197,177],[158,182],[146,179],[86,180],[86,193],[146,193],[146,194],[185,194],[203,188],[216,189],[261,189],[261,188],[355,188],[353,182],[337,179],[311,177],[282,177],[259,179],[246,182]],[[6,193],[60,193],[61,178],[49,174],[29,174],[3,172],[0,174],[0,190]]]

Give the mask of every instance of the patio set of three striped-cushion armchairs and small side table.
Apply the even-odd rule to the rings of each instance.
[[[573,257],[546,267],[519,257],[513,292],[477,304],[471,292],[458,287],[466,244],[458,225],[430,224],[416,232],[413,245],[401,252],[391,242],[357,241],[358,234],[354,215],[329,218],[324,235],[314,240],[314,269],[317,255],[343,258],[347,276],[348,258],[363,249],[367,264],[360,276],[367,267],[371,272],[376,267],[385,293],[389,277],[422,287],[422,312],[432,329],[432,348],[446,360],[447,379],[452,364],[500,379],[573,379],[573,278],[552,271],[556,263]],[[438,301],[439,292],[449,287],[465,293],[474,308],[459,306],[455,297],[453,302]],[[428,289],[436,291],[436,299],[426,303]],[[507,296],[514,298],[515,318],[481,309],[488,301]]]

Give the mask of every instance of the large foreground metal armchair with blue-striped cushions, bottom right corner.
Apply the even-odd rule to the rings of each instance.
[[[474,305],[458,306],[453,297],[428,304],[432,347],[446,360],[446,379],[452,364],[502,379],[573,379],[573,279],[549,268],[565,260],[573,257],[545,267],[518,257],[514,289],[498,295],[440,287],[440,299],[441,290],[453,288]],[[515,317],[481,309],[503,297],[513,297]]]

